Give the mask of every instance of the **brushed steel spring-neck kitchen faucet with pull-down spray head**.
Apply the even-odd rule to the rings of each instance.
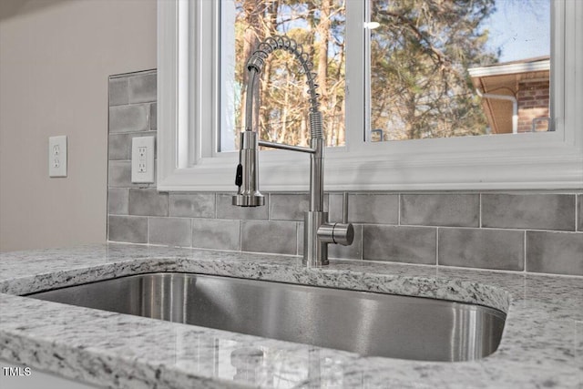
[[[310,95],[310,147],[292,146],[259,140],[253,131],[253,90],[257,76],[261,73],[265,59],[275,50],[286,50],[301,64],[301,72],[306,76]],[[353,243],[354,228],[351,223],[329,223],[328,212],[323,211],[323,149],[322,113],[312,72],[313,64],[307,53],[296,41],[288,36],[270,36],[261,42],[247,62],[249,80],[245,105],[245,129],[240,133],[239,165],[235,175],[238,192],[232,204],[239,207],[265,205],[265,198],[259,190],[259,146],[281,148],[310,154],[310,210],[305,212],[303,226],[304,266],[321,267],[328,262],[328,244],[348,246]],[[344,199],[345,201],[345,199]],[[344,218],[346,219],[346,218]]]

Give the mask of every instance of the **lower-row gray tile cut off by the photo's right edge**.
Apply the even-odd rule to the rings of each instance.
[[[527,231],[527,271],[583,275],[583,233]]]

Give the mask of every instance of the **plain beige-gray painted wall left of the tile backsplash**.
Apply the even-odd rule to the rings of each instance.
[[[0,251],[106,241],[107,78],[156,67],[156,0],[0,0]],[[48,178],[48,137],[68,177]]]

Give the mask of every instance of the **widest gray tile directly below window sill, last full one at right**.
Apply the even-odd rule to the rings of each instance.
[[[482,227],[575,230],[575,195],[483,194]]]

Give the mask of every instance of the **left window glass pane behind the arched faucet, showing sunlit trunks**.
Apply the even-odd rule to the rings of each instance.
[[[245,123],[245,68],[252,51],[267,36],[287,35],[313,61],[321,95],[328,146],[344,145],[343,0],[223,0],[221,3],[220,151],[238,148]],[[261,139],[309,146],[309,102],[305,76],[292,55],[277,51],[268,58],[259,85],[255,129]],[[257,106],[257,105],[256,105]]]

